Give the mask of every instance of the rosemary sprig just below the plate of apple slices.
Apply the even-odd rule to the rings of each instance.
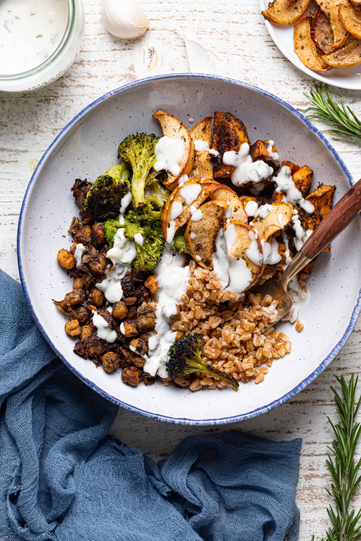
[[[306,115],[310,120],[316,118],[333,126],[333,131],[330,132],[333,137],[361,143],[361,121],[348,105],[345,106],[343,100],[341,100],[341,105],[334,103],[327,84],[325,84],[327,102],[324,98],[322,83],[315,84],[314,88],[311,87],[310,93],[311,96],[305,93],[304,95],[313,103],[314,107],[299,109],[301,113],[309,113],[310,111],[310,114]]]

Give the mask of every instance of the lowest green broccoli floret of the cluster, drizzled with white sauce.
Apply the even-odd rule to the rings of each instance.
[[[123,227],[127,239],[134,241],[136,253],[132,266],[137,271],[152,271],[159,263],[164,247],[164,237],[160,223],[139,220],[136,211],[124,216],[124,223],[119,220],[107,220],[104,223],[104,234],[109,248],[114,245],[116,230]]]

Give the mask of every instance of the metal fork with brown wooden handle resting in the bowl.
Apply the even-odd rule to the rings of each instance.
[[[322,250],[349,225],[349,223],[361,211],[361,179],[349,189],[340,201],[330,210],[329,214],[321,221],[317,229],[306,240],[303,247],[297,252],[291,263],[283,272],[282,278],[278,281],[275,278],[267,280],[255,293],[261,296],[271,295],[278,301],[277,321],[292,308],[293,300],[287,292],[287,285],[307,263],[316,258]]]

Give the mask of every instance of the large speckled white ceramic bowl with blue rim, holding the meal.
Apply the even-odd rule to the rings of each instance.
[[[272,138],[283,159],[314,169],[313,186],[336,184],[336,201],[352,183],[349,171],[323,135],[287,103],[250,85],[208,75],[165,75],[114,90],[81,111],[51,143],[31,178],[18,228],[18,263],[25,295],[49,344],[87,385],[129,410],[172,423],[211,425],[246,419],[282,404],[309,384],[337,355],[360,312],[359,217],[321,254],[308,288],[305,328],[279,327],[292,340],[292,353],[274,360],[265,381],[241,384],[238,393],[191,391],[155,384],[124,385],[120,371],[109,375],[73,353],[65,318],[52,304],[71,291],[72,280],[56,262],[69,247],[71,218],[78,214],[70,193],[74,179],[94,180],[116,162],[117,145],[129,133],[160,134],[157,108],[196,120],[216,110],[231,111],[245,122],[251,141]],[[65,239],[64,239],[65,235]]]

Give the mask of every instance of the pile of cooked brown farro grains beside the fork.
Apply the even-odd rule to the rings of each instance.
[[[245,383],[250,379],[260,383],[273,359],[291,351],[285,333],[272,327],[265,331],[277,319],[269,308],[273,299],[270,295],[261,299],[254,293],[238,298],[229,291],[222,292],[213,271],[196,266],[195,261],[189,267],[192,274],[187,295],[180,306],[179,319],[173,321],[173,330],[182,335],[203,334],[204,359],[209,364]],[[297,324],[302,326],[299,321]],[[206,374],[193,374],[189,383],[191,391],[203,387],[224,389],[227,383]]]

